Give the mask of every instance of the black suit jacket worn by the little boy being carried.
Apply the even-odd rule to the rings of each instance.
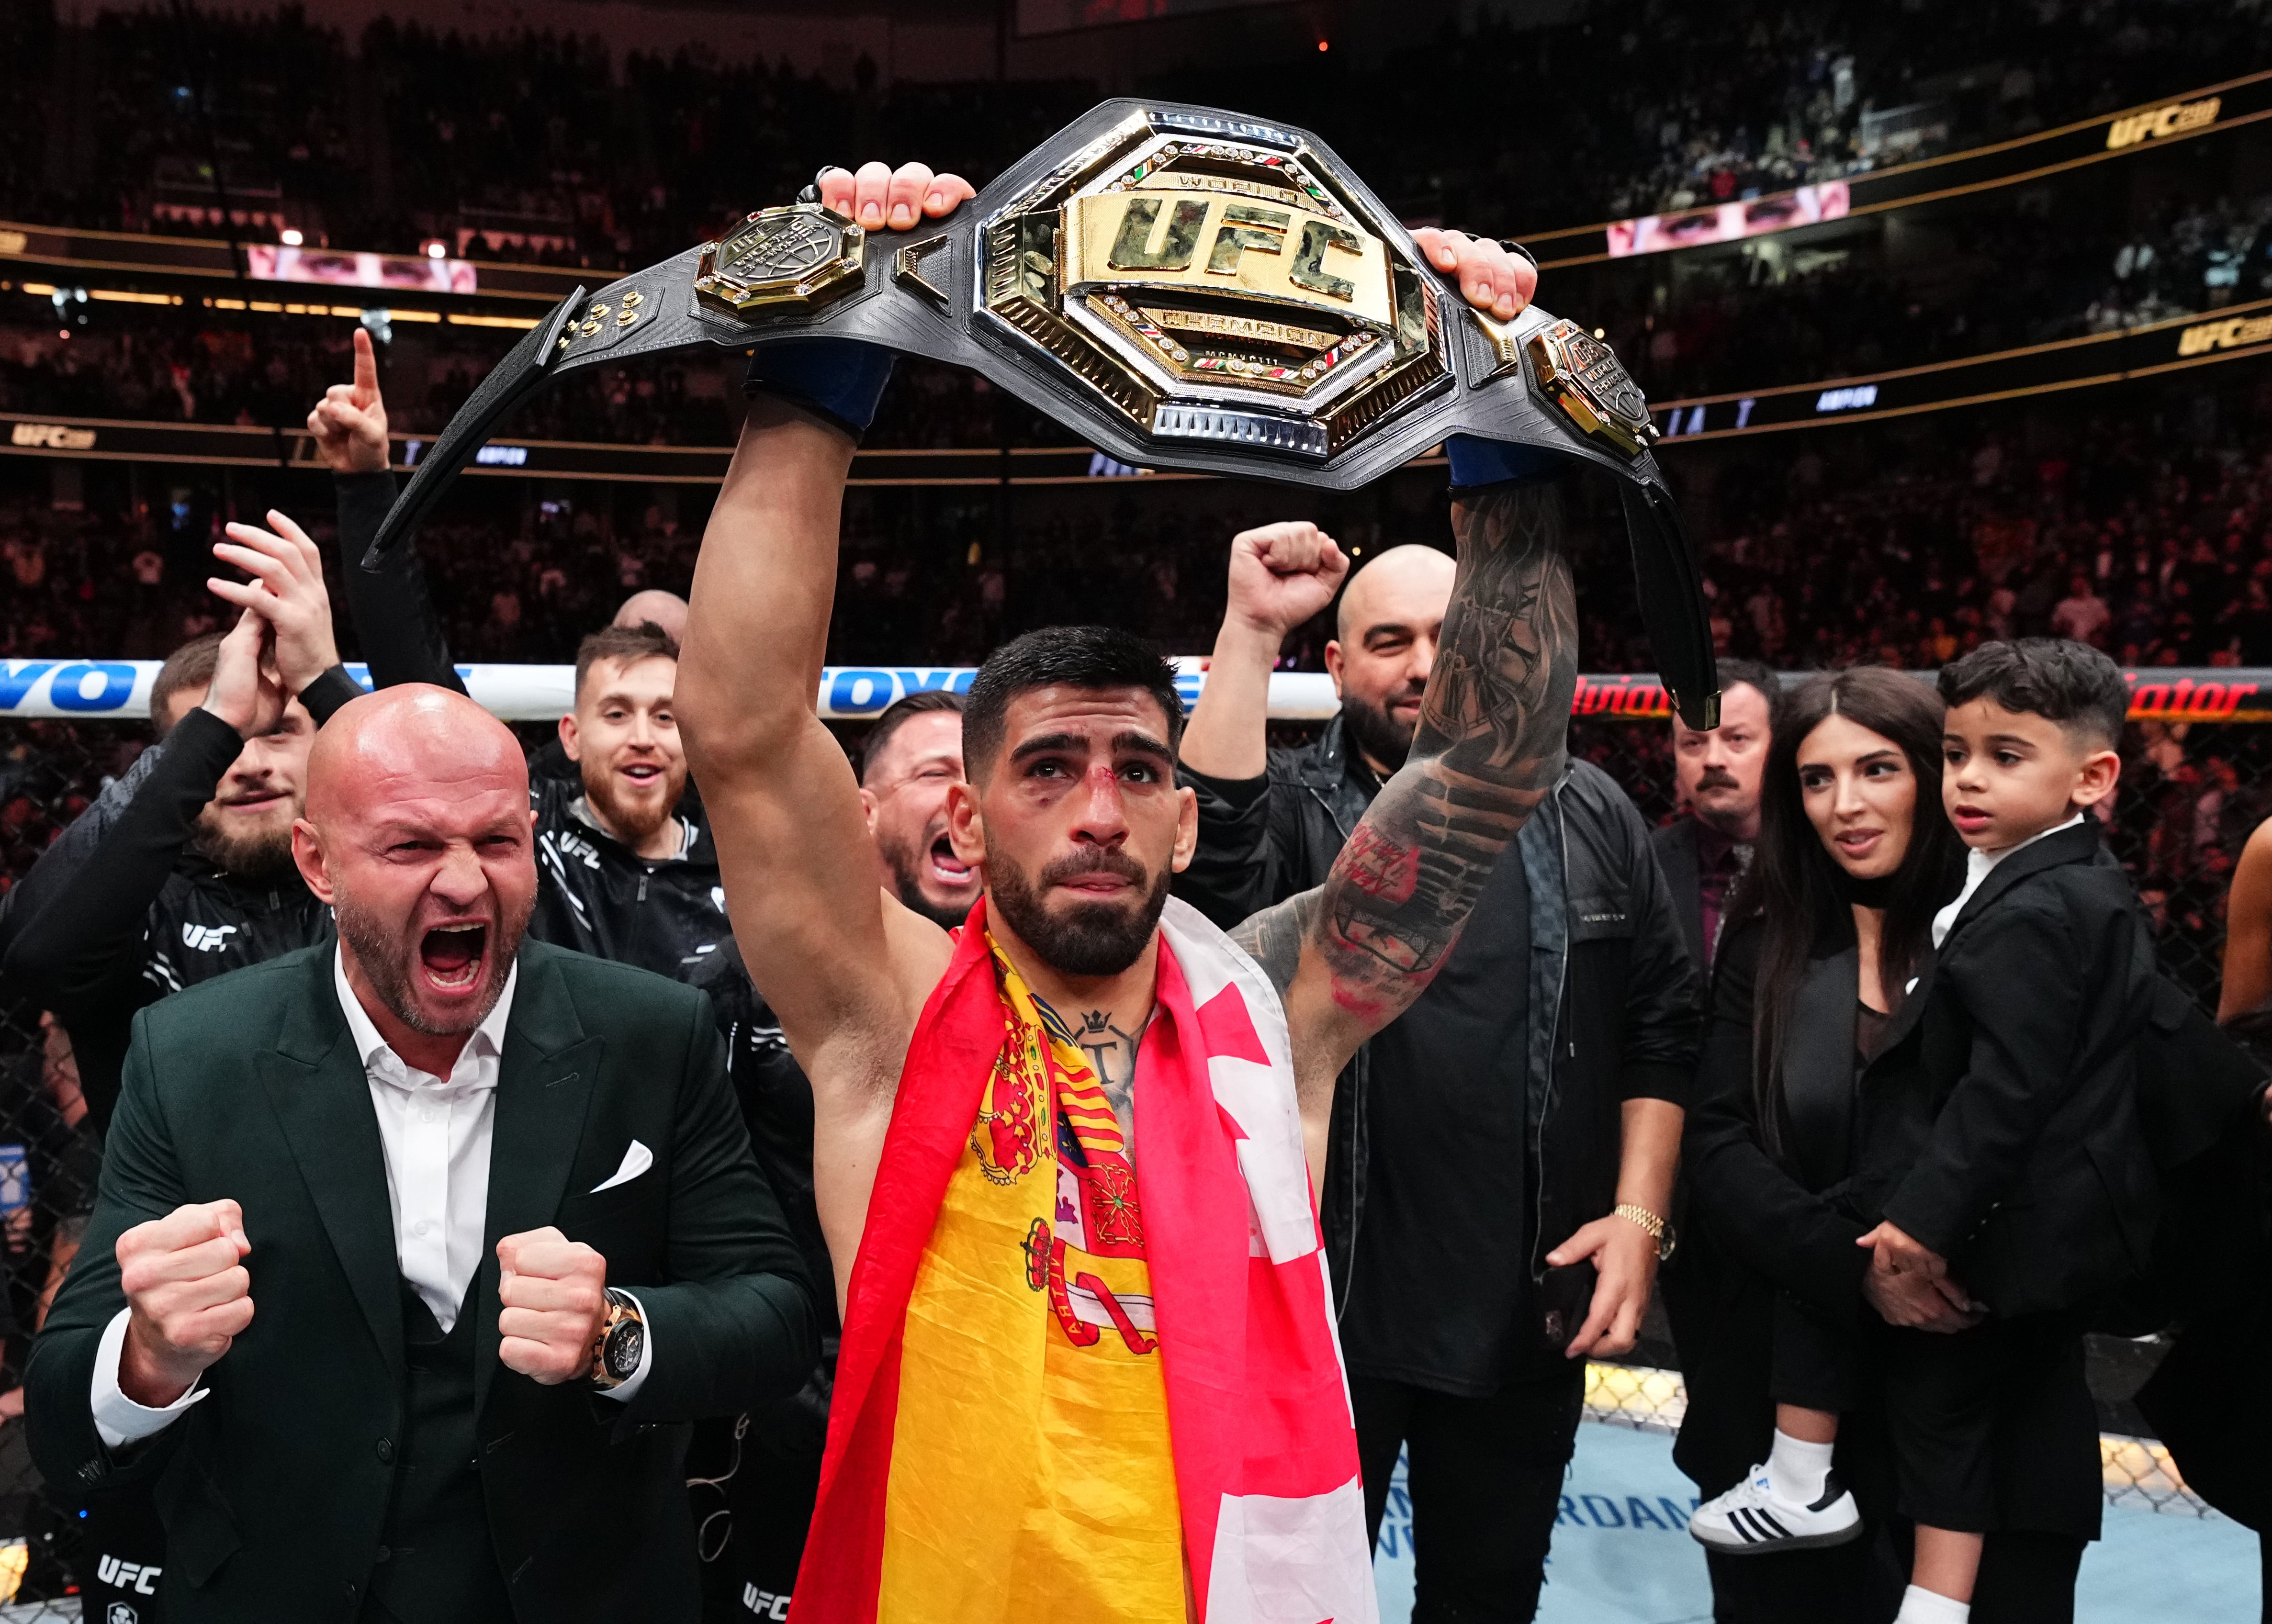
[[[1865,1147],[1883,1215],[1997,1313],[2090,1304],[2147,1270],[2161,1190],[2138,1117],[2154,940],[2093,824],[2027,845],[1956,915],[1918,1093]]]

